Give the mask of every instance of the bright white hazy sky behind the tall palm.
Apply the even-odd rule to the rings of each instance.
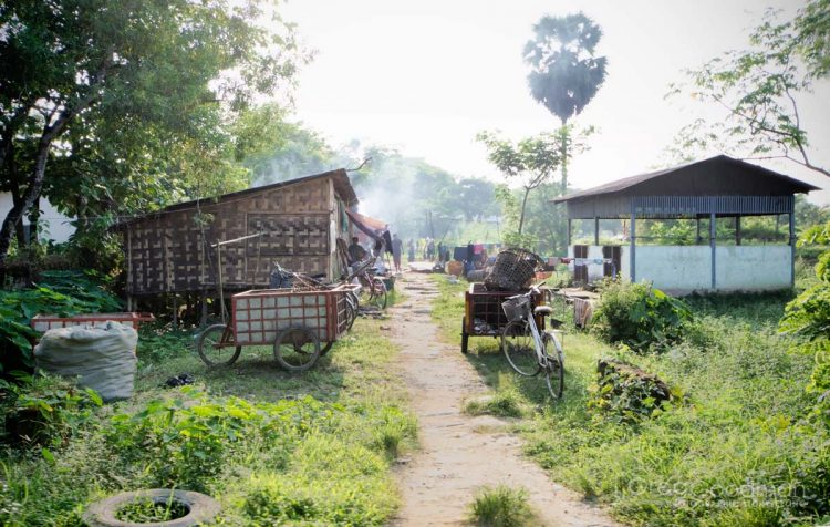
[[[715,112],[687,95],[665,100],[671,83],[728,50],[746,46],[767,8],[792,16],[791,0],[289,0],[314,50],[300,72],[295,120],[334,145],[353,138],[394,146],[459,176],[500,180],[475,141],[500,130],[518,140],[559,125],[530,96],[521,51],[544,14],[583,11],[603,31],[603,86],[574,121],[593,125],[590,151],[569,180],[589,188],[664,166],[664,148],[697,116]],[[830,81],[799,101],[811,161],[830,166]],[[830,189],[830,178],[784,161],[754,162]],[[810,200],[830,204],[830,190]]]

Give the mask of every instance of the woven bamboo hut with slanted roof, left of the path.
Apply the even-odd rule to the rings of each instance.
[[[338,239],[357,203],[338,169],[210,199],[187,202],[118,226],[126,292],[212,292],[264,287],[274,264],[310,275],[341,273]]]

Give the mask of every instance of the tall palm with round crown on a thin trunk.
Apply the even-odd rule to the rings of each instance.
[[[579,115],[605,80],[604,56],[594,56],[602,30],[583,13],[542,17],[533,25],[533,38],[525,44],[530,65],[530,94],[558,116],[562,192],[568,188],[568,159],[572,130],[568,121]]]

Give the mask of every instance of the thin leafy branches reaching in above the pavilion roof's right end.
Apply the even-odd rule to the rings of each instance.
[[[689,84],[673,85],[670,95],[692,92],[725,112],[716,122],[696,120],[679,133],[679,143],[698,151],[717,149],[737,157],[786,158],[830,176],[812,163],[799,96],[830,71],[830,1],[813,0],[791,21],[768,12],[749,37],[749,49],[713,59],[688,70]]]

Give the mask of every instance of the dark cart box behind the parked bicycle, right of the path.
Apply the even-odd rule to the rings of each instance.
[[[470,337],[501,337],[501,331],[508,320],[501,309],[501,302],[508,297],[521,294],[521,291],[488,291],[484,283],[470,283],[464,293],[464,318],[461,319],[461,353],[467,353]],[[533,307],[542,306],[543,292],[533,296]],[[536,323],[540,330],[544,329],[544,317],[537,317]]]

